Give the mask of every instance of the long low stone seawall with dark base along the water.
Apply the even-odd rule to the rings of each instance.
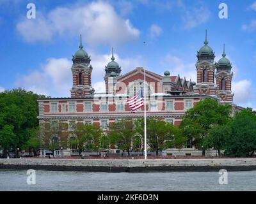
[[[256,159],[0,159],[0,169],[142,172],[142,171],[250,171]]]

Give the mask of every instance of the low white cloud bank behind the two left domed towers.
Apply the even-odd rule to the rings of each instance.
[[[105,92],[105,66],[111,55],[100,55],[92,52],[92,84],[95,92]],[[115,54],[116,62],[122,67],[122,74],[140,66],[141,57],[120,58]],[[52,97],[69,97],[72,87],[72,61],[67,58],[48,59],[40,68],[27,75],[20,75],[15,82],[16,87]]]

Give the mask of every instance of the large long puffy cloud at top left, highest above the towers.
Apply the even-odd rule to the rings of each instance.
[[[36,19],[23,18],[17,30],[24,40],[50,41],[54,36],[77,36],[81,33],[87,43],[116,44],[134,40],[140,31],[129,19],[120,18],[113,6],[102,1],[83,6],[59,7]]]

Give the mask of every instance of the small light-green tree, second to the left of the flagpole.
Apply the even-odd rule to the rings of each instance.
[[[70,145],[76,145],[79,155],[84,150],[99,150],[102,129],[95,124],[74,124]]]

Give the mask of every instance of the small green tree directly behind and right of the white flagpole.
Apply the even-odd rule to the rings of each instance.
[[[137,130],[140,135],[144,135],[144,119],[138,120]],[[180,141],[183,142],[179,130],[173,124],[155,118],[147,119],[147,145],[157,156],[159,150],[179,147]]]

